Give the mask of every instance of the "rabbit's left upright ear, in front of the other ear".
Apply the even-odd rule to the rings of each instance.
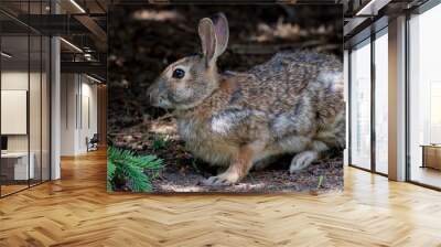
[[[207,66],[216,61],[216,34],[213,21],[204,18],[200,21],[198,33],[202,42],[202,52],[205,56]]]

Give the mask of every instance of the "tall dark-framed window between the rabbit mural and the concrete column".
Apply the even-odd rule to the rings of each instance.
[[[353,47],[349,56],[349,162],[380,174],[388,173],[387,35],[386,26],[372,35],[375,40]]]

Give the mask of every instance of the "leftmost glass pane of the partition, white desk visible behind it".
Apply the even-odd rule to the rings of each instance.
[[[2,195],[26,189],[34,179],[29,157],[29,36],[1,37],[1,178]],[[31,165],[30,165],[31,162]]]

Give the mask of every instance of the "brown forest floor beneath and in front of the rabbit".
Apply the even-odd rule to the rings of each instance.
[[[150,131],[142,131],[150,130]],[[125,131],[122,131],[125,132]],[[129,131],[128,131],[129,132]],[[136,150],[139,154],[154,153],[164,165],[152,180],[155,193],[164,192],[312,192],[343,189],[341,155],[325,158],[309,168],[290,174],[292,155],[281,157],[263,170],[251,170],[239,183],[230,186],[205,186],[202,181],[216,175],[217,169],[195,159],[179,139],[173,120],[152,120],[131,127],[130,135],[112,137],[115,146]]]

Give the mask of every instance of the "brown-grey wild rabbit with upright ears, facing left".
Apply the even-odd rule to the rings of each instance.
[[[343,66],[312,51],[277,53],[245,73],[219,73],[228,43],[224,13],[198,23],[202,54],[169,65],[148,89],[150,104],[174,110],[186,148],[224,172],[203,182],[232,185],[268,158],[294,154],[298,172],[345,144]]]

